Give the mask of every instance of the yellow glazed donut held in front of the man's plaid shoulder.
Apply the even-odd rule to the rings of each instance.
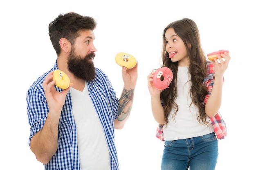
[[[70,78],[61,70],[53,71],[53,80],[55,81],[56,87],[66,89],[70,86]]]

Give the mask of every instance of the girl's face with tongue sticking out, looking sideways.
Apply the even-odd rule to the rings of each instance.
[[[178,66],[189,66],[189,57],[186,46],[182,39],[175,33],[173,28],[165,32],[166,51],[172,62],[178,62]]]

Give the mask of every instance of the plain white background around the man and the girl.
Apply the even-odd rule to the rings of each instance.
[[[116,130],[121,170],[159,170],[164,143],[155,137],[147,75],[160,66],[162,31],[191,18],[199,28],[204,52],[230,51],[220,113],[228,136],[219,140],[216,170],[252,169],[255,165],[255,5],[250,0],[13,0],[0,4],[1,159],[0,169],[43,170],[28,146],[26,92],[52,68],[56,53],[49,22],[74,11],[97,20],[95,66],[110,78],[117,95],[123,88],[118,52],[134,55],[139,78],[132,113]],[[249,156],[250,155],[250,156]],[[6,167],[6,168],[3,168]]]

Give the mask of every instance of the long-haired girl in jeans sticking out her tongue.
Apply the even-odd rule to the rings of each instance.
[[[218,110],[229,60],[226,52],[218,60],[206,60],[191,19],[177,20],[164,29],[162,67],[171,68],[173,80],[168,88],[158,90],[154,72],[148,75],[153,117],[160,125],[157,137],[164,141],[161,170],[215,169],[217,139],[227,135]]]

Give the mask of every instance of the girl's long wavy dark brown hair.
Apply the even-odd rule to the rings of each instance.
[[[190,94],[192,101],[195,106],[199,109],[198,121],[202,121],[204,124],[206,122],[206,114],[204,108],[204,97],[208,93],[208,89],[203,84],[203,79],[207,74],[206,68],[206,57],[201,48],[200,35],[198,27],[195,22],[189,18],[183,18],[182,20],[177,20],[169,24],[163,32],[163,49],[162,49],[162,62],[165,67],[171,68],[173,71],[173,80],[169,88],[164,89],[161,94],[161,100],[164,104],[164,118],[166,125],[168,124],[168,116],[171,115],[173,118],[177,113],[179,107],[174,102],[177,98],[177,71],[178,71],[178,62],[172,62],[169,58],[169,54],[166,51],[166,39],[165,33],[169,28],[173,28],[175,33],[182,39],[186,46],[186,51],[189,56],[189,73],[191,74],[191,89]]]

